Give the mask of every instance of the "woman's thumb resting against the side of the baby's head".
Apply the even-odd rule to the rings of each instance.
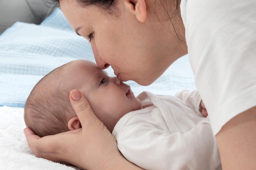
[[[77,117],[79,118],[82,127],[88,126],[88,124],[94,124],[94,122],[98,119],[94,115],[92,108],[85,96],[77,89],[70,91],[70,102],[74,111],[76,112]]]

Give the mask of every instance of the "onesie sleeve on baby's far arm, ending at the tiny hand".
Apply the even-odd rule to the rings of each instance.
[[[195,110],[196,113],[202,116],[200,112],[200,102],[202,98],[198,91],[183,90],[175,94],[175,97],[182,100],[189,108]]]

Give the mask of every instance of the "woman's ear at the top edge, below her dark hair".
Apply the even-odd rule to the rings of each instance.
[[[139,22],[145,22],[147,19],[146,1],[145,0],[125,0],[130,11],[136,16]]]

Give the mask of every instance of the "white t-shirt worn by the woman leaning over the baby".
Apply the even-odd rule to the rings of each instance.
[[[256,1],[182,0],[195,86],[213,134],[256,106]]]

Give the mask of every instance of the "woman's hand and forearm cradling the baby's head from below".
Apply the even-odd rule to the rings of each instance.
[[[37,157],[86,170],[141,170],[121,155],[115,138],[79,91],[70,92],[70,101],[82,128],[42,138],[31,129],[24,129],[29,147]]]

